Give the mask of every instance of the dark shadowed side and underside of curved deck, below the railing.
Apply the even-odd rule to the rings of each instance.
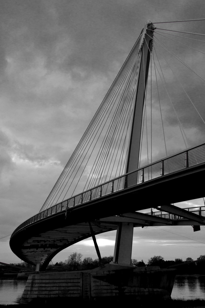
[[[40,262],[44,270],[62,249],[91,236],[89,221],[94,234],[115,230],[119,222],[132,222],[135,227],[204,224],[199,215],[197,222],[195,217],[181,219],[183,214],[173,220],[135,212],[203,197],[204,176],[205,163],[201,163],[71,207],[15,230],[10,247],[26,262]]]

